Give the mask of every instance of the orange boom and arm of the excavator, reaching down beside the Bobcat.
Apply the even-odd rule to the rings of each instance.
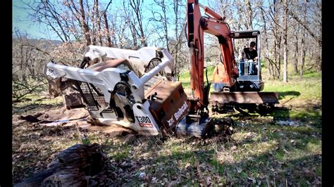
[[[202,16],[200,8],[207,17]],[[234,32],[224,21],[221,15],[212,11],[209,7],[199,4],[197,0],[187,1],[187,45],[190,47],[190,86],[194,92],[192,105],[194,110],[206,108],[209,104],[209,83],[204,86],[204,32],[213,34],[218,38],[221,48],[222,64],[214,71],[214,82],[223,82],[228,87],[235,84],[238,76],[233,53],[232,39]]]

